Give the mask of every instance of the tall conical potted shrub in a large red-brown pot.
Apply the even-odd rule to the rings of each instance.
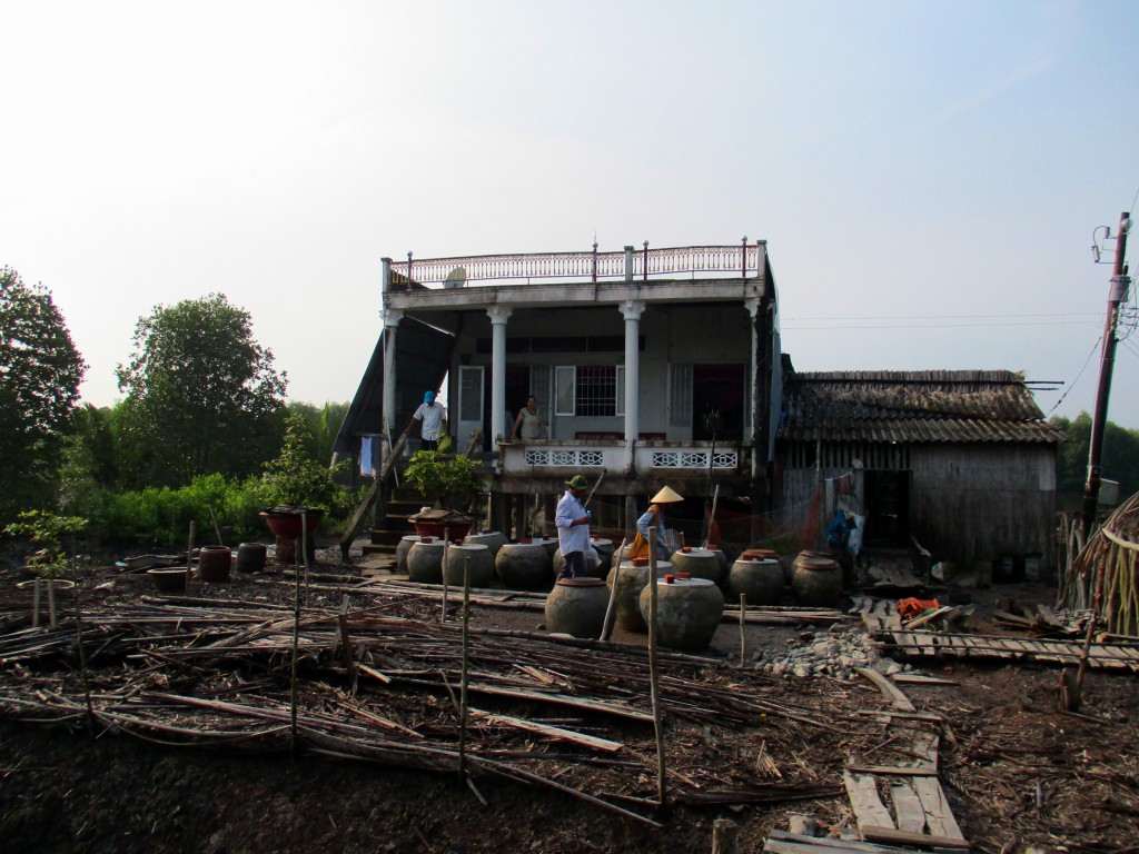
[[[334,479],[336,469],[321,465],[305,450],[309,437],[304,418],[290,412],[281,451],[265,465],[261,478],[262,494],[269,503],[261,516],[277,536],[277,559],[281,563],[295,559],[293,547],[302,532],[308,536],[310,559],[316,557],[312,537],[325,514],[345,496]]]

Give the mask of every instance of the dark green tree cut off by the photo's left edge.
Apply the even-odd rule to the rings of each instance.
[[[0,522],[51,502],[85,370],[51,293],[0,269]]]

